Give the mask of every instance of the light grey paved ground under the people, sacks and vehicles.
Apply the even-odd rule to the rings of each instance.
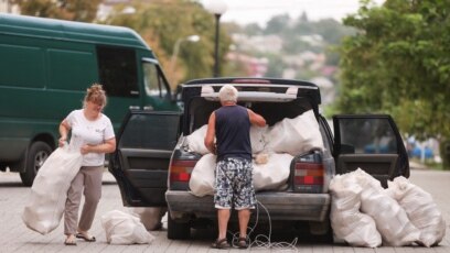
[[[430,193],[438,204],[447,221],[450,224],[450,173],[415,169],[411,172],[411,182]],[[152,231],[156,237],[152,244],[146,245],[109,245],[106,243],[105,232],[99,217],[109,210],[126,210],[122,207],[120,193],[115,179],[109,173],[105,173],[103,198],[98,207],[97,217],[94,221],[92,233],[97,242],[78,242],[77,246],[63,244],[63,226],[47,235],[41,235],[29,230],[21,220],[21,213],[26,201],[30,188],[23,187],[18,174],[0,173],[0,252],[227,252],[210,249],[211,232],[199,233],[190,241],[170,241],[167,239],[167,223],[160,231]],[[215,232],[214,232],[215,233]],[[254,252],[280,252],[279,249],[253,248]],[[233,249],[228,252],[242,252]],[[347,252],[386,252],[386,253],[418,253],[418,252],[450,252],[450,235],[437,248],[426,249],[421,246],[377,249],[352,248],[344,244],[320,244],[299,242],[292,248],[285,248],[283,252],[304,253],[347,253]]]

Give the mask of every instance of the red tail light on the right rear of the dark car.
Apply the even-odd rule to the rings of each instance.
[[[324,168],[318,153],[298,157],[292,166],[292,186],[294,191],[321,194],[324,184]]]

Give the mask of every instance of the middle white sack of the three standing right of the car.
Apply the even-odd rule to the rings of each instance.
[[[361,210],[369,215],[382,234],[383,244],[404,246],[417,242],[420,231],[410,222],[406,211],[390,198],[381,183],[358,168],[355,170],[361,193]]]

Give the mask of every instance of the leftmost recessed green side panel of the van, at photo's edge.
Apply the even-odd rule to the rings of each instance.
[[[0,44],[0,86],[44,88],[44,51],[31,46]]]

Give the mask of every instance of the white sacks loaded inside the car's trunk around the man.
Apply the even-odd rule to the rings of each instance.
[[[204,144],[207,125],[186,136],[189,150],[202,154],[190,179],[191,193],[203,197],[214,195],[216,156]],[[272,127],[250,128],[254,155],[255,190],[278,190],[287,185],[293,156],[310,150],[323,150],[322,135],[312,110],[294,119],[283,119]]]

